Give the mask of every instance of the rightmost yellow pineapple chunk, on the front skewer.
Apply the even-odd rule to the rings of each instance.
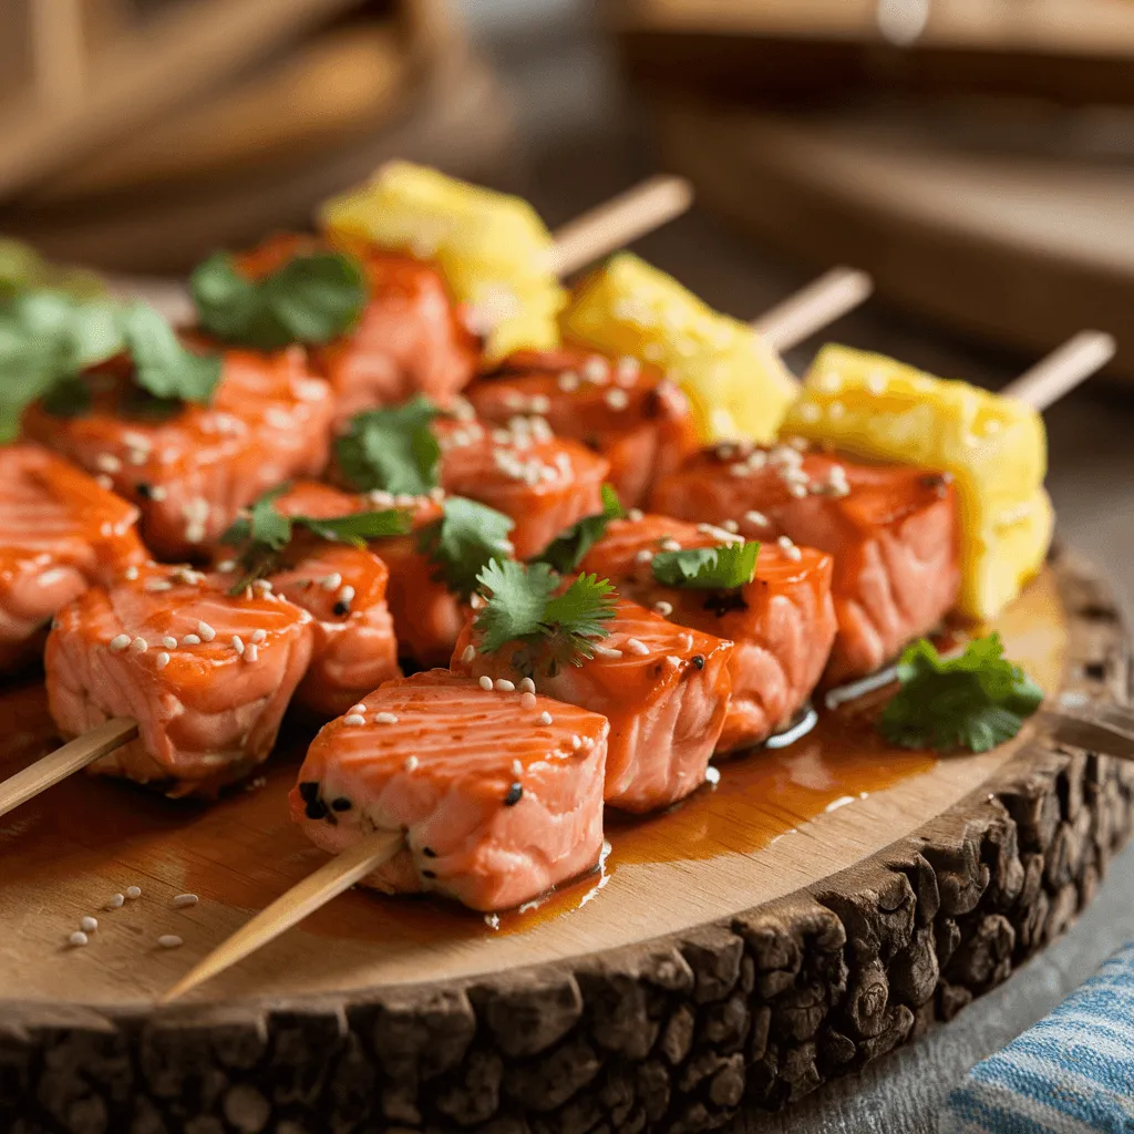
[[[947,471],[962,528],[959,611],[992,618],[1043,564],[1051,501],[1047,433],[1030,406],[881,355],[829,346],[804,379],[786,433],[852,457]]]

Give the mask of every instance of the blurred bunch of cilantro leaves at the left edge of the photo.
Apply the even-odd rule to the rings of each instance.
[[[135,381],[161,398],[206,403],[220,359],[186,350],[169,324],[143,303],[19,291],[0,302],[0,441],[19,434],[24,411],[43,399],[49,413],[74,415],[90,405],[79,375],[128,352]]]

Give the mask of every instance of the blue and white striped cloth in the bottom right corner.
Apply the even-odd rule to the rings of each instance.
[[[1050,1016],[979,1063],[941,1134],[1134,1134],[1134,942]]]

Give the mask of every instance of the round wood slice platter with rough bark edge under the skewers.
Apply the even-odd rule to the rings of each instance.
[[[1119,616],[1074,558],[996,628],[1052,697],[1125,701]],[[0,712],[8,775],[52,744],[42,686]],[[5,1128],[696,1131],[782,1106],[1006,979],[1134,822],[1134,764],[1035,728],[899,753],[868,716],[824,711],[684,805],[609,821],[601,872],[534,909],[353,891],[168,1008],[321,861],[284,801],[310,729],[287,722],[263,778],[211,809],[65,782],[0,827]],[[98,932],[68,947],[86,914]]]

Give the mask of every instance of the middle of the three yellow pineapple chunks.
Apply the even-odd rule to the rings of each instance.
[[[583,281],[562,327],[596,350],[661,366],[685,391],[705,442],[771,441],[797,393],[779,355],[751,327],[631,253]]]

